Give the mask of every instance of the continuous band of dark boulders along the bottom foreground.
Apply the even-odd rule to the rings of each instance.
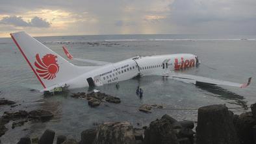
[[[55,137],[53,130],[45,130],[40,138],[21,138],[18,144],[253,144],[256,141],[256,103],[251,112],[234,115],[223,104],[198,109],[196,132],[193,121],[177,121],[170,115],[151,121],[148,126],[134,128],[127,121],[108,122],[81,132],[81,139]]]

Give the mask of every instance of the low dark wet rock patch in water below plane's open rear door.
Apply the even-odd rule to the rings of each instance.
[[[110,102],[110,103],[116,103],[119,104],[121,102],[120,98],[114,97],[112,95],[107,95],[106,93],[101,92],[92,92],[92,93],[73,93],[71,95],[73,98],[80,98],[80,99],[86,99],[88,101],[88,105],[91,107],[96,107],[101,104],[101,102]]]

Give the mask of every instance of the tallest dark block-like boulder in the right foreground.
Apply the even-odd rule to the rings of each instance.
[[[237,132],[227,107],[218,104],[198,109],[197,144],[238,144]]]

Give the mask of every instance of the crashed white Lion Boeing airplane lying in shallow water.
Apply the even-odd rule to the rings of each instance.
[[[97,66],[75,66],[51,51],[44,44],[32,38],[26,32],[10,34],[19,51],[31,67],[34,75],[43,86],[41,91],[53,91],[55,88],[68,86],[68,89],[94,88],[104,84],[117,83],[134,77],[159,75],[196,84],[204,82],[220,86],[246,88],[251,78],[245,84],[216,80],[213,78],[186,75],[179,71],[189,70],[200,64],[198,56],[194,54],[165,54],[153,56],[135,56],[120,62],[110,63],[83,58],[73,58],[66,47],[64,53],[68,59],[96,64]]]

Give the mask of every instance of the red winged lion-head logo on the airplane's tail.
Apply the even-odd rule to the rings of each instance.
[[[41,60],[39,54],[36,54],[36,62],[34,62],[34,66],[37,67],[36,72],[40,77],[47,80],[56,77],[59,69],[56,58],[57,56],[53,54],[46,54]]]

